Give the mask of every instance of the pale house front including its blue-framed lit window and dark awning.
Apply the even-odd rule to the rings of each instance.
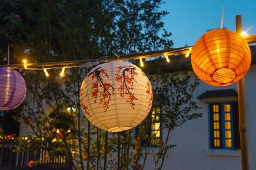
[[[252,65],[244,77],[246,128],[250,169],[256,169],[256,65],[252,48]],[[195,79],[195,73],[191,72]],[[194,99],[202,118],[188,121],[170,134],[170,144],[177,146],[168,151],[163,169],[239,170],[241,153],[237,107],[237,83],[214,87],[200,81]],[[164,137],[163,130],[163,137]],[[145,169],[154,169],[153,157]]]

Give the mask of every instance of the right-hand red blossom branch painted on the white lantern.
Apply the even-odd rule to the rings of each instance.
[[[134,82],[137,82],[134,79],[134,77],[138,75],[136,68],[134,66],[118,66],[115,75],[115,81],[121,83],[118,88],[118,91],[120,91],[120,97],[125,97],[125,95],[128,95],[128,100],[126,100],[126,102],[129,102],[132,109],[134,109],[134,100],[137,100],[137,98],[132,93],[132,90]]]

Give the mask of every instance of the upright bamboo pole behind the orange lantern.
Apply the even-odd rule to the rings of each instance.
[[[241,34],[242,32],[241,15],[236,15],[236,32],[238,34]],[[240,143],[241,143],[242,169],[249,170],[247,135],[246,135],[246,112],[245,112],[245,98],[244,98],[244,77],[238,81],[237,89],[238,89],[238,104],[239,104],[239,132],[240,132]]]

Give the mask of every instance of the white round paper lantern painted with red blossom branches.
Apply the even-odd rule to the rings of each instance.
[[[80,104],[86,118],[109,132],[139,125],[147,117],[152,100],[152,86],[145,73],[125,61],[96,66],[80,89]]]

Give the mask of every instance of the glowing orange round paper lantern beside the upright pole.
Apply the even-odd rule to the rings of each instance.
[[[205,33],[193,47],[191,64],[196,75],[213,86],[227,86],[248,72],[251,52],[246,40],[227,29]]]

